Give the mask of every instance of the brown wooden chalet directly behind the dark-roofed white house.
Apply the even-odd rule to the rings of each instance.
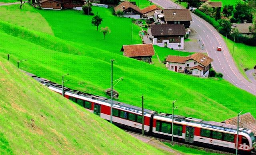
[[[162,13],[167,24],[184,24],[185,28],[189,28],[192,21],[188,9],[164,9]]]

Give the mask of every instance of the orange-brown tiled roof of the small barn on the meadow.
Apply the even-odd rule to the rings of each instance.
[[[154,55],[154,48],[151,43],[137,45],[123,45],[121,51],[124,51],[126,57],[143,57]]]

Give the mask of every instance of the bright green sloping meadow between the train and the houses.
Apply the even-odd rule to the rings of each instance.
[[[30,9],[35,12],[34,8]],[[93,10],[103,17],[102,26],[112,29],[105,40],[82,12],[38,10],[37,14],[46,19],[54,36],[14,26],[12,22],[0,22],[0,35],[4,38],[0,41],[0,56],[9,53],[14,64],[27,59],[21,64],[27,66],[26,71],[58,83],[62,75],[69,73],[66,86],[102,96],[110,88],[110,60],[115,59],[114,79],[124,77],[114,88],[120,93],[119,101],[140,106],[144,94],[145,108],[158,112],[170,113],[170,103],[178,99],[175,112],[180,115],[223,121],[236,116],[242,106],[244,112],[256,116],[252,103],[256,97],[225,80],[191,77],[168,71],[160,63],[150,65],[122,56],[122,44],[141,42],[140,27],[133,26],[131,41],[130,19],[112,16],[103,8]],[[160,57],[169,52],[161,53],[162,50],[155,48]]]

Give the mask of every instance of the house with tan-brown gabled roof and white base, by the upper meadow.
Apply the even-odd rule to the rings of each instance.
[[[120,17],[126,17],[126,18],[134,18],[134,19],[140,19],[142,17],[142,11],[138,6],[132,4],[131,2],[122,2],[118,6],[114,8],[115,12],[118,10],[123,12],[123,15]]]

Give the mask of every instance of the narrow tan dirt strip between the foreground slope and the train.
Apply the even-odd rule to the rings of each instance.
[[[139,139],[140,141],[148,143],[149,145],[151,145],[151,146],[153,146],[153,147],[155,147],[157,149],[160,149],[160,150],[164,151],[167,154],[170,154],[170,155],[183,155],[183,154],[181,154],[181,153],[179,153],[177,151],[174,151],[173,149],[171,149],[167,145],[164,145],[163,143],[161,143],[160,141],[154,139],[153,137],[142,136],[140,134],[132,133],[132,132],[129,132],[129,131],[126,131],[126,132],[129,133],[130,135],[132,135],[132,137],[135,137],[135,138]]]

